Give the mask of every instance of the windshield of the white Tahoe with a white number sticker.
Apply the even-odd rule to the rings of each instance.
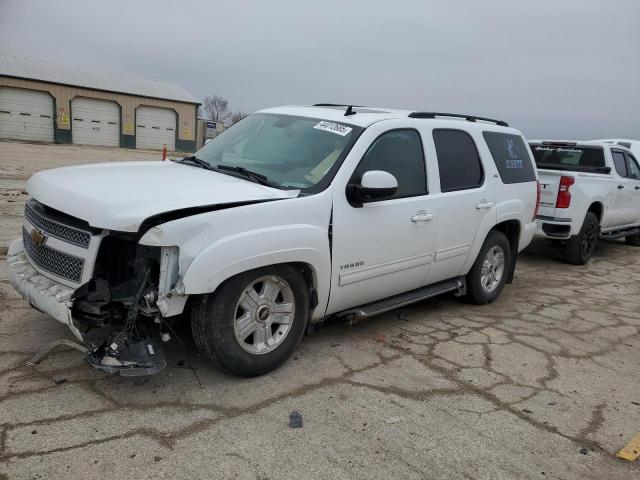
[[[212,167],[258,173],[281,188],[310,189],[339,167],[360,131],[354,125],[319,119],[255,114],[222,132],[195,156]]]

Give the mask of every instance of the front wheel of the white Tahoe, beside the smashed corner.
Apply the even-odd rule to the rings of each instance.
[[[196,344],[228,372],[253,377],[282,365],[302,339],[307,284],[287,265],[237,275],[194,308]]]

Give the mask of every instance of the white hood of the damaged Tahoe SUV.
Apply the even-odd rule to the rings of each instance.
[[[136,232],[153,215],[193,207],[292,198],[279,190],[175,162],[110,162],[36,173],[27,191],[40,203],[97,228]]]

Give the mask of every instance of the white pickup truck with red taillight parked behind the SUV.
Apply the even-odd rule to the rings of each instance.
[[[640,166],[621,144],[531,141],[541,186],[538,233],[584,265],[599,238],[640,245]]]

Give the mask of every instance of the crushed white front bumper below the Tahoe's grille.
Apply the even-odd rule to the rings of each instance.
[[[61,285],[36,271],[24,253],[22,239],[14,240],[7,252],[9,281],[33,308],[67,325],[80,341],[82,334],[73,324],[71,295],[74,289]]]

